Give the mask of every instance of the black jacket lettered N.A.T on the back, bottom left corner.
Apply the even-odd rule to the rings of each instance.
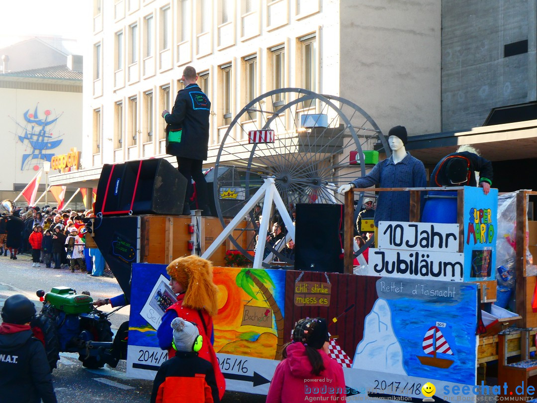
[[[0,391],[0,401],[56,403],[45,348],[32,330],[0,327]]]

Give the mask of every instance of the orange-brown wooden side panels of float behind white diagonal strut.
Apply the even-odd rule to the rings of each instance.
[[[213,243],[222,232],[220,220],[214,217],[201,217],[201,253]],[[226,220],[229,222],[230,220]],[[188,241],[192,235],[188,232],[188,224],[192,222],[190,216],[176,215],[165,217],[163,215],[142,215],[140,228],[140,262],[168,264],[172,260],[191,254],[188,250]],[[243,248],[248,245],[252,231],[242,231],[249,224],[242,221],[239,228],[234,231],[234,238]],[[215,266],[224,265],[224,255],[228,249],[235,247],[229,240],[222,243],[211,257]]]

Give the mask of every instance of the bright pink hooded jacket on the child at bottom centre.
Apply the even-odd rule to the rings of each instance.
[[[313,401],[345,401],[345,378],[342,366],[319,350],[324,371],[319,376],[311,375],[311,364],[302,343],[289,344],[287,358],[276,367],[266,403],[298,403],[310,398]],[[335,400],[331,400],[331,396]]]

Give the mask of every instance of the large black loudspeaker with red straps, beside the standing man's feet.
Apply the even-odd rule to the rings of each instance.
[[[185,192],[186,178],[162,158],[105,164],[95,213],[180,215]]]

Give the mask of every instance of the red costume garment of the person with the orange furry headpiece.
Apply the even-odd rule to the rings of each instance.
[[[220,365],[218,364],[218,359],[213,349],[213,344],[211,344],[211,336],[213,333],[213,319],[206,311],[201,311],[205,321],[205,327],[203,326],[203,321],[200,318],[200,311],[193,310],[192,308],[187,308],[182,306],[183,298],[185,294],[179,294],[177,296],[177,302],[172,304],[167,311],[175,311],[178,318],[183,318],[189,322],[195,322],[198,325],[200,334],[203,336],[203,344],[201,350],[198,352],[201,358],[206,359],[213,365],[214,377],[216,378],[216,385],[218,386],[218,395],[222,399],[224,392],[226,391],[226,379],[220,371]],[[168,358],[175,356],[175,350],[170,348],[168,350]]]

